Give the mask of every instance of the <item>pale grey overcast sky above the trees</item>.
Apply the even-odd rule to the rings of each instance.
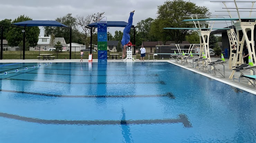
[[[0,9],[0,20],[15,19],[25,15],[33,20],[55,20],[67,13],[87,16],[97,12],[105,12],[108,21],[128,21],[129,12],[135,10],[133,25],[147,18],[156,18],[157,6],[164,4],[166,0],[2,0]],[[188,1],[188,0],[187,0]],[[198,6],[206,6],[212,14],[228,14],[227,12],[215,12],[225,10],[221,2],[210,2],[210,0],[190,0]],[[216,1],[216,0],[211,0]],[[221,1],[221,0],[218,0]],[[227,0],[225,0],[227,1]],[[233,0],[228,0],[233,1]],[[237,0],[238,1],[238,0]],[[243,1],[243,0],[239,0]],[[227,3],[229,8],[235,8],[234,2]],[[238,3],[238,7],[251,7],[252,3]],[[255,6],[256,7],[256,6]],[[231,10],[231,9],[230,9]],[[234,18],[237,13],[232,12]],[[242,12],[242,16],[248,17],[248,12]],[[253,12],[252,17],[256,17]],[[214,28],[223,28],[223,24],[216,24]],[[43,36],[43,28],[40,36]],[[116,30],[124,28],[110,28],[108,31],[114,35]]]

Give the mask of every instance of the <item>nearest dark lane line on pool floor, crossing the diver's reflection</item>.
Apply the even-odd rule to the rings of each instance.
[[[66,124],[66,125],[136,125],[136,124],[173,124],[182,123],[185,128],[192,125],[185,114],[179,114],[176,119],[152,119],[152,120],[45,120],[38,118],[23,117],[0,112],[0,117],[15,119],[19,121],[39,123],[39,124]]]

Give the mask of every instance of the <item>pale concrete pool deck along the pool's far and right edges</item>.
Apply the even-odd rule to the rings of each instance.
[[[220,58],[211,58],[211,61],[217,61]],[[228,61],[228,59],[225,59],[226,61]],[[54,60],[38,60],[38,59],[3,59],[1,60],[1,63],[56,63],[56,62],[80,62],[80,59],[54,59]],[[88,59],[84,59],[83,62],[88,62]],[[98,59],[93,59],[93,62],[98,62]],[[108,59],[108,62],[126,62],[126,61],[122,61],[121,59]],[[136,59],[136,62],[140,62],[139,59]],[[153,60],[144,60],[144,62],[153,62]],[[155,61],[154,61],[155,62]],[[252,85],[248,85],[248,80],[246,79],[241,79],[240,83],[238,82],[237,79],[235,79],[235,81],[233,81],[233,79],[229,79],[229,76],[232,73],[232,69],[228,69],[228,62],[225,65],[225,78],[223,78],[223,76],[221,76],[221,74],[219,72],[216,72],[216,76],[214,76],[213,74],[209,74],[209,72],[204,72],[203,70],[200,69],[196,69],[196,68],[192,68],[192,66],[190,66],[189,64],[185,64],[182,65],[180,62],[175,63],[174,60],[170,61],[170,60],[156,60],[156,62],[170,62],[174,65],[186,68],[188,70],[191,70],[193,72],[202,74],[204,76],[216,79],[218,81],[221,81],[223,83],[229,84],[231,86],[237,87],[239,89],[251,92],[253,94],[256,94],[256,87],[253,87]],[[192,63],[192,60],[190,60],[190,62]],[[216,68],[218,69],[223,69],[222,65],[217,65]],[[255,69],[256,70],[256,69]],[[250,75],[249,71],[245,71],[243,72],[245,75]],[[235,72],[235,76],[238,77],[240,75],[240,72]],[[237,90],[237,89],[234,89]]]

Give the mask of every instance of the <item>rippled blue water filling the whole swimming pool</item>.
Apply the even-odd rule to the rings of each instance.
[[[1,64],[0,143],[256,142],[255,95],[170,63]]]

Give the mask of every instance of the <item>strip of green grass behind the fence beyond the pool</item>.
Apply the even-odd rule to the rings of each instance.
[[[40,54],[53,54],[52,56],[55,56],[55,59],[69,59],[69,51],[58,53],[54,51],[40,51]],[[84,52],[83,59],[88,59],[90,52]],[[119,54],[119,56],[122,55],[122,52],[110,52],[110,54]],[[37,56],[39,56],[39,51],[25,51],[25,59],[37,59]],[[92,53],[93,59],[98,59],[98,52]],[[109,56],[109,52],[108,52]],[[3,59],[22,59],[23,54],[21,51],[3,51]],[[43,56],[42,56],[43,58]],[[111,55],[109,56],[111,58]],[[137,59],[140,59],[140,54],[136,55]],[[80,52],[71,52],[71,59],[81,59]],[[145,60],[148,59],[148,54],[146,54]],[[153,59],[153,55],[150,55],[150,59]],[[162,59],[162,58],[161,58]]]

